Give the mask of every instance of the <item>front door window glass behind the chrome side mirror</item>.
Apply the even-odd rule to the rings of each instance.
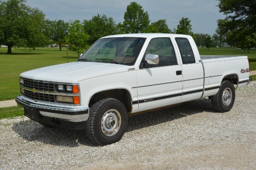
[[[144,57],[147,54],[158,55],[159,63],[157,65],[149,65],[146,63],[146,67],[177,65],[176,55],[170,38],[166,37],[151,39],[151,41],[148,44],[148,48],[144,54]]]

